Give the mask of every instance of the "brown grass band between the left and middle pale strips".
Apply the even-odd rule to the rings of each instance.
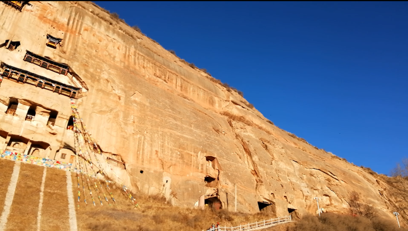
[[[6,230],[36,230],[43,169],[38,165],[21,163]]]

